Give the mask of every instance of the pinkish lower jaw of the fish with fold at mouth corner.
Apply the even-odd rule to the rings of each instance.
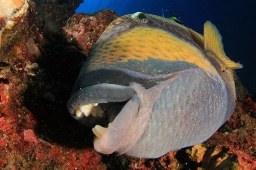
[[[113,152],[126,154],[134,145],[136,146],[138,140],[144,140],[141,136],[147,130],[148,123],[151,122],[155,102],[160,97],[163,88],[174,81],[178,75],[172,74],[167,81],[159,82],[159,85],[151,88],[145,88],[135,82],[131,83],[130,87],[136,91],[136,95],[122,108],[104,135],[94,139],[94,149],[102,154]],[[161,145],[160,142],[155,144]],[[143,150],[138,149],[138,152],[143,152]],[[130,156],[139,157],[137,153]]]

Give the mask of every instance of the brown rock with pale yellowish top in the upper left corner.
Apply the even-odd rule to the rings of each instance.
[[[34,24],[35,3],[30,0],[8,2],[1,7],[0,56],[19,68],[40,56],[46,40]]]

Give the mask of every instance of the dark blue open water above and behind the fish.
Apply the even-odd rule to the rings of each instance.
[[[142,11],[170,17],[178,14],[185,26],[203,33],[210,20],[220,31],[224,51],[244,68],[236,70],[243,85],[256,94],[256,0],[84,0],[76,12],[109,8],[118,15]]]

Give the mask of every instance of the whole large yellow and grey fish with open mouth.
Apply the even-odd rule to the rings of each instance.
[[[67,103],[92,127],[94,148],[141,158],[207,140],[236,105],[233,69],[218,29],[204,36],[137,12],[114,20],[94,45]]]

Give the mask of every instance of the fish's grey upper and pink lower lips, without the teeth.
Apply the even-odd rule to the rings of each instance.
[[[106,119],[93,117],[91,115],[77,118],[76,114],[74,114],[74,111],[79,105],[124,101],[127,101],[126,104],[109,126]],[[100,138],[96,137],[94,139],[93,145],[95,150],[99,153],[110,154],[118,150],[119,147],[122,147],[123,141],[127,138],[132,125],[136,121],[139,110],[139,97],[132,87],[102,83],[88,86],[77,91],[68,101],[67,108],[71,116],[85,125],[91,127],[95,125],[108,126],[106,132]]]

